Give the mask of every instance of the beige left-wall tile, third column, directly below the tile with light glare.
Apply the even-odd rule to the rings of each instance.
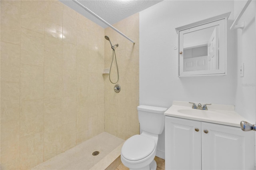
[[[44,83],[62,83],[62,55],[44,51]]]

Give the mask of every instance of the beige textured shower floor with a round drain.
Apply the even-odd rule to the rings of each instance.
[[[88,170],[123,142],[124,140],[121,138],[102,132],[74,148],[38,164],[32,170]],[[94,151],[99,151],[100,154],[93,156],[92,152]]]

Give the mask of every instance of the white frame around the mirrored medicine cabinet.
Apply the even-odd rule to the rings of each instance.
[[[194,22],[176,29],[178,34],[178,77],[188,76],[202,76],[202,75],[226,75],[227,74],[227,20],[231,12],[208,18],[199,22]],[[202,71],[183,71],[183,34],[209,28],[212,26],[220,26],[220,39],[219,46],[219,69],[218,70],[202,70]],[[181,41],[180,41],[181,39]]]

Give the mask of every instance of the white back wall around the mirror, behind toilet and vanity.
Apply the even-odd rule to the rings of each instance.
[[[228,29],[225,76],[178,77],[178,51],[174,50],[174,46],[178,46],[176,27],[226,12],[232,12],[229,28],[234,20],[234,1],[165,0],[140,12],[140,105],[168,108],[174,100],[235,104],[238,74],[234,48],[236,31]],[[163,134],[158,149],[164,151]],[[163,158],[161,152],[158,156]]]

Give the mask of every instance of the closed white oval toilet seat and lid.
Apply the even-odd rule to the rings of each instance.
[[[122,146],[122,156],[130,161],[141,160],[149,156],[156,147],[153,139],[142,135],[130,137]]]

